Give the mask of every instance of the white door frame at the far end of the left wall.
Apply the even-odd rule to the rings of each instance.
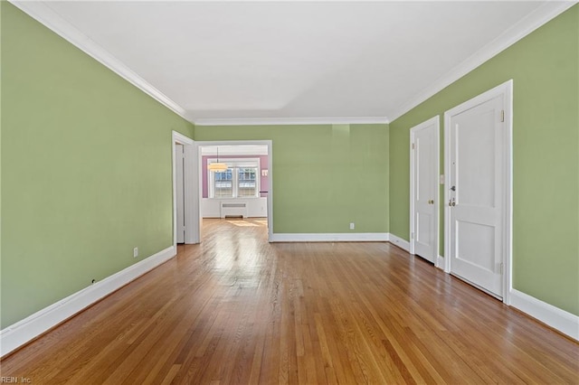
[[[175,145],[183,145],[185,150],[184,196],[185,196],[185,243],[199,243],[199,222],[195,222],[199,212],[195,141],[183,134],[173,131],[171,134],[171,155],[173,166],[173,246],[177,244],[177,205],[176,205],[176,150]]]

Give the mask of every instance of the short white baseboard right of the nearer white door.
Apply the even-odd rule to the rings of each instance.
[[[565,312],[516,289],[510,290],[510,305],[579,341],[579,316]]]

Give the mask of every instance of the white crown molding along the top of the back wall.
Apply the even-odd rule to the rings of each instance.
[[[387,117],[255,117],[239,119],[194,119],[195,126],[290,126],[388,124]]]

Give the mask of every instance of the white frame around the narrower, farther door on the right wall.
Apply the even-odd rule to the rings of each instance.
[[[415,132],[423,127],[428,127],[434,125],[434,140],[436,141],[436,185],[434,186],[434,266],[437,268],[442,268],[442,261],[439,258],[439,248],[440,248],[440,229],[439,229],[439,218],[440,218],[440,184],[438,183],[439,175],[441,174],[441,117],[437,115],[436,117],[431,117],[430,119],[422,122],[419,125],[416,125],[410,129],[410,253],[414,254],[414,238],[413,234],[416,233],[415,227],[415,218],[416,213],[414,208],[414,173],[416,172],[414,164],[414,154],[413,154],[413,143]]]

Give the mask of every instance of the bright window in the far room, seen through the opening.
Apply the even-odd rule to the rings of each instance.
[[[209,164],[216,162],[209,160]],[[207,174],[209,198],[255,198],[259,196],[259,159],[222,159],[229,168]]]

